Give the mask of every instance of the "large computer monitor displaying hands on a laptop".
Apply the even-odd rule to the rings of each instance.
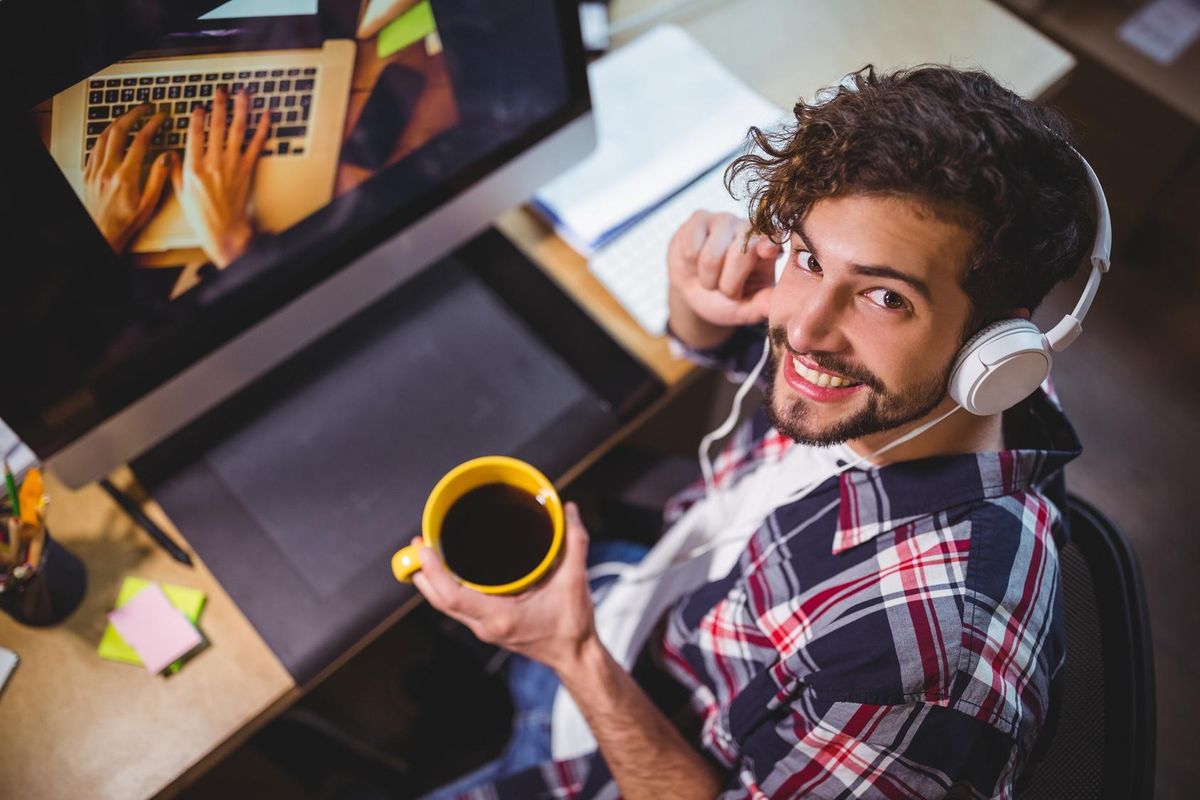
[[[4,0],[0,68],[0,419],[72,486],[594,146],[572,2]]]

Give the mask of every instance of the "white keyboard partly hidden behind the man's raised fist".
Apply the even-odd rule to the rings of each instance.
[[[696,209],[746,213],[746,200],[725,191],[725,167],[694,184],[640,219],[592,255],[588,266],[600,283],[653,336],[667,330],[667,245]]]

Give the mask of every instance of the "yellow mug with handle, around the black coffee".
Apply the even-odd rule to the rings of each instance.
[[[553,566],[559,551],[563,549],[565,530],[563,501],[559,499],[558,492],[554,491],[554,485],[533,465],[508,456],[484,456],[458,464],[446,473],[430,492],[430,497],[425,501],[425,512],[421,515],[421,537],[427,547],[442,553],[442,523],[450,506],[472,489],[488,483],[506,483],[522,492],[528,492],[546,509],[553,529],[553,539],[546,557],[521,578],[496,585],[470,583],[458,578],[462,585],[487,595],[515,595],[540,581]],[[421,557],[416,546],[402,547],[391,557],[391,572],[401,583],[409,583],[413,579],[413,573],[420,569]]]

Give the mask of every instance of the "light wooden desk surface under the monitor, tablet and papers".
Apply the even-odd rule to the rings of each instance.
[[[619,18],[649,5],[652,0],[618,0],[613,13]],[[1033,97],[1051,91],[1073,66],[1069,54],[988,0],[700,2],[674,20],[784,107],[866,61],[880,68],[923,61],[978,65]],[[671,360],[666,343],[642,332],[587,272],[583,259],[527,211],[505,213],[498,227],[672,387],[664,402],[690,380],[691,369]],[[584,463],[611,445],[599,445]],[[570,481],[583,465],[559,482]],[[128,487],[130,481],[127,471],[114,476],[118,486]],[[0,696],[0,729],[19,732],[6,735],[0,746],[0,796],[172,794],[306,687],[292,681],[203,563],[186,570],[172,561],[97,487],[71,492],[52,481],[49,493],[50,530],[83,558],[91,583],[80,609],[58,627],[23,628],[0,615],[0,642],[22,656]],[[146,512],[186,540],[186,531],[175,530],[152,500],[146,500]],[[209,595],[200,622],[212,645],[169,679],[150,678],[95,654],[104,613],[121,577],[131,572],[198,587]],[[406,610],[396,609],[380,630]]]

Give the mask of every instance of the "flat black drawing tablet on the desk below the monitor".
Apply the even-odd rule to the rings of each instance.
[[[390,555],[446,470],[559,475],[661,391],[487,231],[133,470],[304,685],[410,596]]]

